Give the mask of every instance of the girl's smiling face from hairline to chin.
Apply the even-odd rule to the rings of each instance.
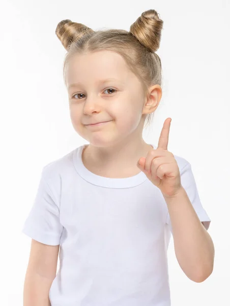
[[[145,96],[123,57],[108,50],[76,55],[66,70],[71,121],[92,145],[142,139]],[[102,125],[88,124],[104,122]]]

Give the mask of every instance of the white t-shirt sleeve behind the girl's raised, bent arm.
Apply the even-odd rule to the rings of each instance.
[[[202,203],[200,202],[191,164],[188,163],[181,170],[180,173],[181,173],[181,185],[185,189],[200,222],[204,222],[205,228],[206,230],[208,230],[211,219],[209,218],[207,212],[202,206]],[[169,213],[167,213],[166,223],[169,225],[170,231],[172,232]]]

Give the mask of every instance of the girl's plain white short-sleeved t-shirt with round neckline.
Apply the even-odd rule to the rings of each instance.
[[[161,191],[142,171],[122,179],[92,173],[82,163],[84,146],[44,166],[22,230],[44,244],[60,244],[51,305],[170,306],[171,224]],[[191,165],[175,159],[181,184],[208,230],[211,220]]]

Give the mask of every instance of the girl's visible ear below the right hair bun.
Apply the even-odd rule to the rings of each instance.
[[[153,85],[149,88],[148,96],[145,99],[142,114],[150,114],[157,109],[162,96],[162,89],[160,85]]]

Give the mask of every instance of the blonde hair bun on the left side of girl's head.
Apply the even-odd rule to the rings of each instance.
[[[94,32],[91,28],[70,19],[65,19],[57,24],[55,34],[60,39],[64,48],[68,51],[70,45],[79,40],[84,34]]]

